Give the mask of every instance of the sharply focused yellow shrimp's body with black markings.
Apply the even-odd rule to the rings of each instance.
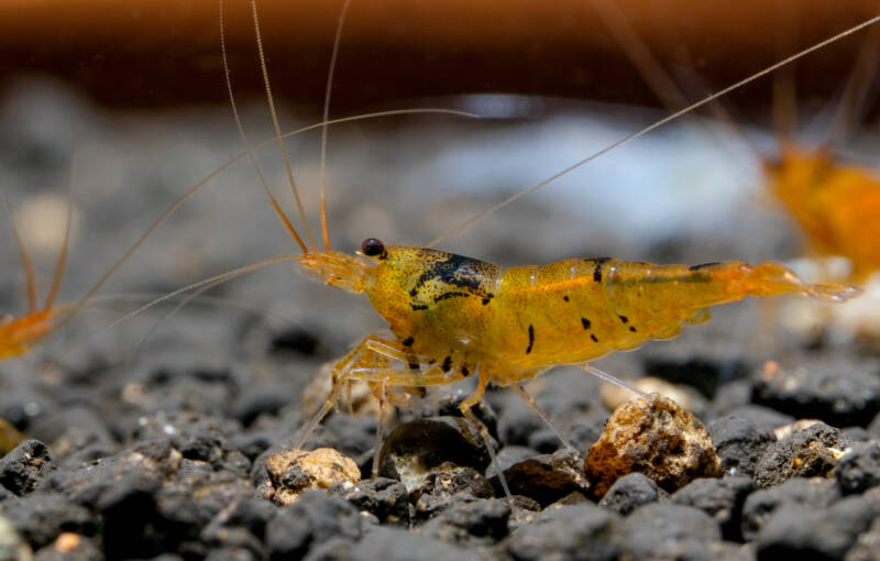
[[[859,294],[848,285],[805,284],[771,262],[689,266],[600,257],[504,268],[373,239],[360,253],[297,260],[328,284],[366,293],[395,336],[365,339],[337,363],[333,380],[425,387],[479,373],[477,391],[462,410],[488,382],[507,386],[557,365],[585,365],[673,338],[682,327],[706,321],[712,306],[749,296],[844,301]]]

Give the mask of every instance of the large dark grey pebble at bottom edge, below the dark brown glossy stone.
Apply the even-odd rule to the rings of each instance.
[[[549,507],[514,530],[507,552],[517,561],[596,561],[620,557],[620,516],[591,503]]]

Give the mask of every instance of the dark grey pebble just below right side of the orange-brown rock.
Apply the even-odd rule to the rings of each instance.
[[[754,488],[750,477],[695,480],[676,491],[672,502],[700,508],[721,525],[724,539],[741,541],[743,506]]]

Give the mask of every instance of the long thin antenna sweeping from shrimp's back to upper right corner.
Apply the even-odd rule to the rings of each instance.
[[[831,36],[831,37],[828,37],[828,38],[826,38],[826,40],[824,40],[824,41],[822,41],[820,43],[816,43],[815,45],[813,45],[811,47],[804,48],[803,51],[801,51],[799,53],[795,53],[795,54],[793,54],[793,55],[791,55],[791,56],[789,56],[789,57],[787,57],[787,58],[784,58],[784,59],[782,59],[782,61],[780,61],[780,62],[778,62],[778,63],[776,63],[773,65],[770,65],[767,68],[765,68],[763,70],[760,70],[760,72],[758,72],[756,74],[752,74],[751,76],[749,76],[747,78],[744,78],[744,79],[741,79],[741,80],[739,80],[739,81],[737,81],[737,82],[735,82],[735,84],[733,84],[730,86],[727,86],[726,88],[724,88],[722,90],[718,90],[715,94],[712,94],[711,96],[706,96],[705,98],[701,99],[700,101],[691,103],[690,106],[685,107],[684,109],[675,111],[674,113],[672,113],[672,114],[670,114],[668,117],[664,117],[663,119],[660,119],[659,121],[656,121],[656,122],[649,124],[648,127],[646,127],[646,128],[644,128],[641,130],[638,130],[636,132],[629,133],[626,136],[624,136],[623,139],[614,142],[613,144],[610,144],[608,146],[605,146],[604,148],[600,150],[598,152],[594,152],[593,154],[586,156],[583,160],[580,160],[580,161],[573,163],[572,165],[570,165],[566,168],[562,169],[561,172],[558,172],[558,173],[551,175],[547,179],[543,179],[542,182],[537,183],[537,184],[532,185],[531,187],[528,187],[527,189],[524,189],[524,190],[521,190],[519,193],[516,193],[516,194],[507,197],[503,201],[501,201],[501,202],[498,202],[498,204],[496,204],[496,205],[494,205],[494,206],[492,206],[492,207],[490,207],[490,208],[487,208],[487,209],[485,209],[485,210],[472,216],[471,218],[462,221],[461,223],[459,223],[458,226],[455,226],[451,230],[447,231],[444,234],[442,234],[439,238],[432,240],[430,243],[427,244],[427,246],[431,248],[433,245],[437,245],[438,243],[440,243],[440,242],[442,242],[444,240],[448,240],[449,238],[451,238],[451,237],[455,235],[457,233],[461,232],[462,230],[464,230],[469,226],[473,224],[477,220],[482,219],[483,217],[488,216],[488,215],[495,212],[496,210],[499,210],[499,209],[506,207],[507,205],[509,205],[509,204],[512,204],[512,202],[525,197],[526,195],[530,195],[530,194],[537,191],[538,189],[540,189],[544,185],[553,183],[554,180],[559,179],[560,177],[562,177],[564,175],[568,175],[569,173],[578,169],[579,167],[583,166],[584,164],[587,164],[587,163],[592,162],[593,160],[595,160],[595,158],[597,158],[597,157],[600,157],[600,156],[602,156],[604,154],[607,154],[608,152],[610,152],[610,151],[613,151],[613,150],[615,150],[615,148],[617,148],[617,147],[619,147],[619,146],[622,146],[624,144],[627,144],[627,143],[629,143],[629,142],[631,142],[631,141],[640,138],[640,136],[644,136],[645,134],[653,131],[654,129],[659,129],[660,127],[667,124],[668,122],[674,121],[675,119],[680,118],[681,116],[690,113],[694,109],[703,107],[706,103],[710,103],[710,102],[718,99],[722,96],[726,96],[727,94],[729,94],[729,92],[732,92],[732,91],[734,91],[736,89],[741,88],[746,84],[755,81],[755,80],[757,80],[758,78],[760,78],[762,76],[767,76],[768,74],[772,73],[773,70],[776,70],[778,68],[781,68],[782,66],[785,66],[785,65],[788,65],[788,64],[790,64],[790,63],[792,63],[792,62],[794,62],[794,61],[796,61],[799,58],[802,58],[802,57],[809,55],[810,53],[813,53],[814,51],[818,51],[818,50],[821,50],[821,48],[823,48],[823,47],[825,47],[825,46],[827,46],[827,45],[829,45],[829,44],[832,44],[832,43],[834,43],[836,41],[839,41],[843,37],[851,35],[853,33],[856,33],[859,30],[862,30],[862,29],[865,29],[865,28],[867,28],[869,25],[872,25],[872,24],[877,23],[878,21],[880,21],[880,15],[875,15],[873,18],[859,23],[858,25],[849,28],[849,29],[847,29],[847,30],[845,30],[845,31],[843,31],[843,32],[840,32],[840,33],[838,33],[836,35],[833,35],[833,36]]]

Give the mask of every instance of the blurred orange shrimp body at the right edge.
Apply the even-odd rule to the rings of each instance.
[[[818,255],[853,263],[853,278],[880,270],[880,179],[871,169],[835,161],[827,151],[780,144],[763,161],[770,190]]]

